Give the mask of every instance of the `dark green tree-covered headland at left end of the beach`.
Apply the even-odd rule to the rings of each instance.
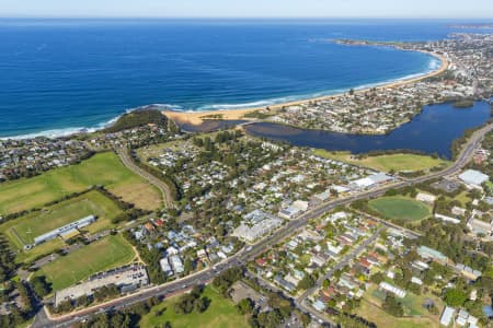
[[[138,109],[123,115],[114,125],[103,130],[106,133],[114,133],[126,129],[131,129],[148,124],[167,126],[168,118],[158,109]]]

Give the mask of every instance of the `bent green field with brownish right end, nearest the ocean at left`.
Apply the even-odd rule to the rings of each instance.
[[[1,184],[0,215],[42,207],[71,192],[103,185],[136,207],[154,210],[161,195],[153,186],[127,169],[115,153],[100,153],[77,165]]]

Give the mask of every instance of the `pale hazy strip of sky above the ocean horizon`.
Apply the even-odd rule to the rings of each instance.
[[[493,0],[0,0],[0,16],[493,19]]]

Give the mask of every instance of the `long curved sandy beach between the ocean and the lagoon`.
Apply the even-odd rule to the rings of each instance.
[[[411,78],[411,79],[405,79],[405,80],[398,80],[394,82],[390,82],[390,83],[386,83],[382,85],[377,85],[377,86],[372,86],[372,87],[365,87],[365,89],[359,89],[359,90],[355,90],[356,93],[364,93],[367,92],[370,89],[392,89],[392,87],[399,87],[402,85],[406,85],[406,84],[412,84],[412,83],[416,83],[420,82],[424,79],[427,78],[432,78],[435,75],[438,75],[440,73],[443,73],[444,71],[447,70],[448,68],[448,60],[438,54],[434,54],[434,52],[428,52],[428,51],[421,51],[431,56],[434,56],[435,58],[439,59],[442,65],[440,67],[435,70],[432,71],[429,73],[420,75],[420,77],[415,77],[415,78]],[[335,97],[340,97],[342,96],[343,93],[340,94],[334,94],[334,95],[326,95],[326,96],[321,96],[321,97],[312,97],[312,98],[306,98],[306,99],[300,99],[300,101],[296,101],[296,102],[287,102],[287,103],[279,103],[279,104],[273,104],[270,105],[270,112],[275,112],[276,109],[279,109],[282,107],[285,106],[296,106],[296,105],[302,105],[309,102],[317,102],[317,101],[324,101],[324,99],[329,99],[329,98],[335,98]],[[206,119],[225,119],[225,120],[238,120],[238,119],[254,119],[254,118],[245,118],[244,115],[255,112],[255,110],[266,110],[267,106],[262,106],[262,107],[251,107],[251,108],[239,108],[239,109],[221,109],[221,110],[205,110],[205,112],[175,112],[175,110],[163,110],[162,113],[170,119],[172,119],[173,121],[175,121],[176,124],[188,124],[188,125],[195,125],[198,126],[200,125],[204,120]]]

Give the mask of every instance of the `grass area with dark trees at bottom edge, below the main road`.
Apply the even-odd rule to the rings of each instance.
[[[161,304],[152,307],[150,313],[142,317],[140,327],[162,327],[164,323],[170,321],[173,328],[246,328],[250,325],[246,317],[240,315],[234,308],[234,303],[223,298],[210,286],[204,289],[202,296],[208,297],[211,302],[204,313],[193,312],[187,315],[176,315],[173,305],[177,297],[169,298]],[[156,316],[158,311],[164,309],[163,314]]]

